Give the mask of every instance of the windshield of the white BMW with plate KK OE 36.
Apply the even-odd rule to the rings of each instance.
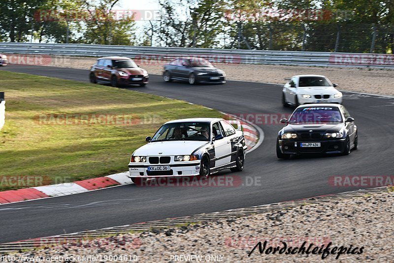
[[[168,123],[160,127],[151,142],[209,141],[209,134],[209,123],[207,122]]]

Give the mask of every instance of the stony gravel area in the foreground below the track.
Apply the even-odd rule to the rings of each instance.
[[[320,262],[322,257],[326,262],[392,262],[393,202],[393,192],[365,195],[247,217],[86,239],[13,256],[61,256],[62,260],[94,256],[98,262],[120,255],[137,262]],[[259,241],[263,253],[257,246],[249,257]],[[282,242],[287,247],[280,254],[285,246]],[[297,253],[304,242],[305,254]],[[273,254],[270,247],[279,249]],[[296,254],[286,254],[289,248]],[[326,248],[330,254],[324,252]],[[122,260],[118,258],[118,262]]]

